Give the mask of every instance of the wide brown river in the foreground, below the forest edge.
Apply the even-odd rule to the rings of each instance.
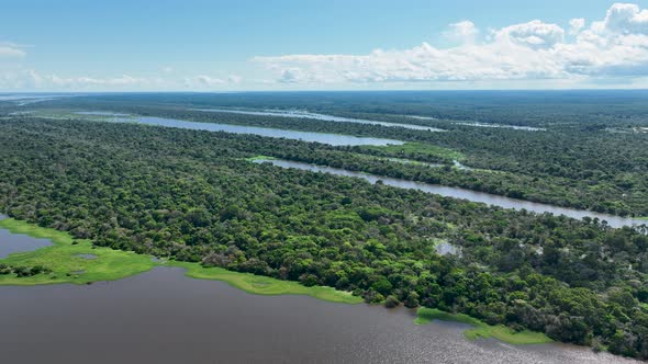
[[[0,237],[0,254],[32,239]],[[170,268],[92,285],[0,286],[0,298],[11,364],[635,363],[573,345],[468,341],[467,326],[416,326],[407,309],[250,295]]]

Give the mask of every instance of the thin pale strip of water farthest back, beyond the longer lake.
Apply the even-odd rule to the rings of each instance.
[[[244,115],[258,115],[258,116],[282,116],[282,117],[297,117],[297,118],[312,118],[325,122],[337,122],[337,123],[357,123],[357,124],[369,124],[380,125],[388,127],[403,127],[406,129],[414,130],[427,130],[427,132],[445,132],[432,126],[414,125],[414,124],[401,124],[401,123],[387,123],[368,121],[361,118],[342,117],[326,114],[311,113],[302,110],[264,110],[264,111],[250,111],[250,110],[238,110],[238,109],[191,109],[194,111],[211,112],[211,113],[231,113],[231,114],[244,114]]]

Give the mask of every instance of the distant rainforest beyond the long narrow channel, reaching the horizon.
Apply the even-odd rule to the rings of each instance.
[[[424,93],[426,94],[426,93]],[[373,136],[410,143],[412,148],[329,147],[312,152],[272,149],[270,156],[317,162],[332,167],[366,171],[388,177],[429,183],[456,185],[476,191],[548,203],[579,209],[591,209],[622,216],[648,216],[648,133],[636,127],[648,123],[648,106],[639,102],[643,92],[530,93],[512,95],[489,93],[315,93],[312,96],[246,94],[220,95],[147,95],[124,98],[102,95],[72,98],[38,104],[44,110],[99,107],[138,115],[179,120],[255,125],[309,132]],[[466,100],[460,98],[463,95]],[[449,104],[439,104],[446,101]],[[344,100],[342,100],[344,99]],[[432,99],[432,101],[431,101]],[[394,123],[420,124],[446,132],[414,130],[355,123],[309,118],[209,113],[191,107],[309,107],[309,111]],[[382,102],[382,106],[378,106]],[[468,107],[467,104],[471,106]],[[373,105],[373,106],[371,106]],[[454,106],[453,106],[454,105]],[[550,105],[550,106],[548,106]],[[466,106],[467,109],[461,109]],[[85,109],[83,109],[85,107]],[[448,110],[451,110],[448,111]],[[474,114],[461,114],[472,110]],[[506,111],[510,111],[506,114]],[[384,113],[381,113],[384,112]],[[443,120],[403,116],[428,115]],[[462,125],[457,121],[530,125],[543,130],[488,128]],[[449,118],[449,117],[455,117]],[[423,147],[422,147],[423,146]],[[434,147],[431,151],[429,147]],[[427,147],[427,148],[426,148]],[[348,151],[354,151],[349,153]],[[362,155],[383,157],[370,159]],[[395,163],[384,158],[406,158],[422,162],[454,160],[472,170],[448,171],[423,168],[416,163]]]

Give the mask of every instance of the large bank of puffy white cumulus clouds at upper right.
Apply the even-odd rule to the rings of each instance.
[[[409,49],[367,55],[255,57],[279,82],[415,82],[573,79],[648,76],[648,10],[615,3],[605,18],[585,26],[534,20],[493,30],[485,41],[470,21],[451,24],[446,36],[463,42],[448,48],[423,43]],[[468,41],[467,41],[468,39]]]

